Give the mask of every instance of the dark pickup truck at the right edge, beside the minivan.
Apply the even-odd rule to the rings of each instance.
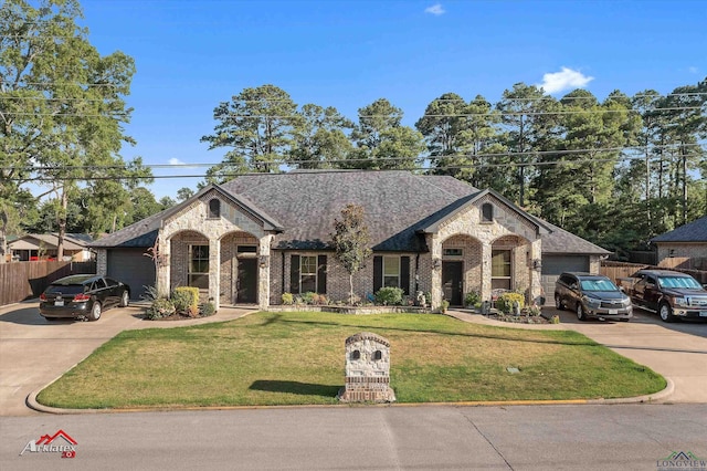
[[[639,270],[616,280],[635,306],[656,312],[663,322],[707,318],[707,291],[690,275],[671,270]]]

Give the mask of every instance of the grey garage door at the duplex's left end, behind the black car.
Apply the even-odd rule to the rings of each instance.
[[[145,249],[108,249],[107,275],[130,286],[130,299],[138,301],[145,286],[154,286],[155,264],[145,257]]]

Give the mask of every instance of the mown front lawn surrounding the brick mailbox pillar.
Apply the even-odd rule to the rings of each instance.
[[[399,402],[614,398],[666,384],[572,331],[488,327],[434,314],[256,313],[124,332],[38,400],[66,408],[336,404],[344,343],[363,331],[391,343]]]

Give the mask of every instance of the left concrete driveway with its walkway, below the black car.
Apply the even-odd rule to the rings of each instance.
[[[97,322],[46,321],[39,302],[0,307],[0,416],[39,414],[27,396],[59,378],[122,331],[230,321],[253,311],[221,308],[214,316],[147,322],[140,307],[105,311]]]

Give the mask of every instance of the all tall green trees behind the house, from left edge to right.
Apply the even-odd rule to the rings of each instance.
[[[157,201],[149,166],[119,155],[135,144],[133,59],[98,54],[77,1],[40,3],[0,7],[0,260],[7,234],[101,234],[177,202]],[[496,102],[445,93],[414,126],[403,117],[387,98],[352,121],[275,85],[244,88],[213,111],[201,140],[224,155],[200,187],[288,169],[450,175],[620,253],[707,213],[707,78],[603,101],[518,83]]]

